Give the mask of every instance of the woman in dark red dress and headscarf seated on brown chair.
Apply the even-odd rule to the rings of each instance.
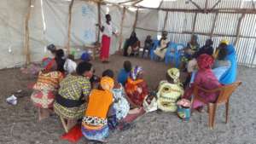
[[[195,82],[191,84],[188,89],[185,90],[183,98],[191,99],[191,96],[193,95],[194,85],[198,85],[203,89],[217,89],[221,86],[221,84],[218,83],[218,79],[214,76],[214,73],[212,72],[213,62],[214,59],[212,58],[212,55],[203,54],[197,58],[199,70],[195,74]],[[199,95],[206,102],[214,102],[218,97],[218,93],[205,93],[201,90],[199,90]],[[192,107],[201,111],[204,105],[205,103],[201,101],[194,101]]]

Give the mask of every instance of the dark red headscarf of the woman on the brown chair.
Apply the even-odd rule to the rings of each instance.
[[[214,59],[211,55],[203,54],[197,58],[197,64],[200,70],[211,69]]]

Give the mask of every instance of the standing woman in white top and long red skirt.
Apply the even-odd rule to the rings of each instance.
[[[102,31],[102,49],[100,59],[103,63],[109,62],[109,47],[111,42],[111,36],[115,34],[115,29],[111,23],[111,15],[106,14],[106,23],[103,26],[99,26]]]

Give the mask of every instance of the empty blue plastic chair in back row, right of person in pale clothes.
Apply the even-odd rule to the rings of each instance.
[[[173,60],[175,61],[175,67],[178,67],[180,65],[180,60],[183,55],[182,49],[184,48],[184,45],[182,43],[169,43],[168,48],[166,50],[166,58],[165,62],[166,65],[171,62],[173,63]],[[173,51],[171,53],[171,51]]]

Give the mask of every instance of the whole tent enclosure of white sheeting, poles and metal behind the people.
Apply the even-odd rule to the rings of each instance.
[[[79,54],[84,45],[98,40],[95,24],[104,21],[107,13],[112,15],[113,25],[120,34],[112,38],[112,54],[122,48],[133,29],[142,43],[147,35],[156,39],[166,30],[175,43],[187,43],[191,34],[199,36],[201,45],[210,37],[214,46],[221,39],[228,39],[236,45],[238,62],[254,66],[255,3],[251,0],[2,0],[0,69],[21,66],[26,60],[42,60],[48,55],[49,43],[60,48],[70,45],[70,50]]]

